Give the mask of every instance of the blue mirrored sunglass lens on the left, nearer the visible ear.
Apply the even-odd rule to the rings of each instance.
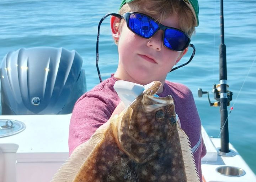
[[[132,13],[129,17],[129,28],[144,38],[150,38],[158,29],[158,24],[148,16]]]

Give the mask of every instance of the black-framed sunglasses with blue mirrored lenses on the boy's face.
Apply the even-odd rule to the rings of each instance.
[[[121,18],[126,20],[127,27],[133,33],[146,39],[151,38],[158,30],[163,30],[163,44],[168,49],[183,51],[190,44],[190,37],[185,32],[162,25],[143,13],[127,12]]]

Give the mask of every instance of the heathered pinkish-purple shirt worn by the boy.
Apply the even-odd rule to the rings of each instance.
[[[69,154],[77,146],[89,140],[97,128],[108,121],[121,101],[113,88],[115,81],[116,78],[112,74],[111,78],[102,81],[76,101],[69,126]],[[168,95],[173,97],[181,128],[190,138],[192,153],[202,181],[201,157],[206,154],[206,148],[202,140],[201,121],[192,92],[185,85],[165,81],[164,91],[159,96]]]

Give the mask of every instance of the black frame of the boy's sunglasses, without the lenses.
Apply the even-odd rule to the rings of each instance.
[[[130,20],[130,15],[131,14],[139,14],[139,15],[143,15],[143,16],[146,16],[150,19],[152,19],[156,24],[158,24],[158,29],[156,29],[156,31],[150,36],[150,37],[144,37],[142,35],[139,35],[138,33],[134,32],[130,27],[129,27],[129,20]],[[154,18],[148,16],[148,15],[145,15],[143,13],[139,13],[139,12],[126,12],[124,13],[123,15],[120,16],[121,18],[125,19],[126,20],[126,24],[127,24],[127,27],[129,28],[129,30],[131,30],[134,34],[142,37],[142,38],[145,38],[145,39],[150,39],[152,36],[154,36],[156,34],[156,32],[158,32],[158,30],[163,30],[164,31],[164,34],[163,34],[163,38],[162,38],[162,42],[163,42],[163,45],[167,48],[167,49],[170,49],[170,50],[173,50],[173,51],[178,51],[178,52],[181,52],[181,51],[184,51],[188,45],[190,44],[190,37],[185,33],[183,32],[182,30],[180,29],[177,29],[177,28],[174,28],[174,27],[167,27],[161,23],[159,23],[158,21],[155,21]],[[181,32],[183,33],[187,38],[188,38],[188,41],[187,43],[185,44],[185,46],[183,47],[183,49],[181,50],[174,50],[174,49],[171,49],[170,47],[167,47],[165,44],[164,44],[164,38],[165,38],[165,30],[166,29],[172,29],[172,30],[177,30],[178,32]]]

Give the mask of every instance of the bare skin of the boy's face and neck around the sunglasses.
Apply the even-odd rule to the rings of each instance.
[[[177,16],[171,15],[162,24],[179,29]],[[119,64],[116,77],[139,84],[165,81],[167,73],[187,52],[167,49],[162,42],[163,31],[159,30],[150,39],[142,38],[122,25],[118,40]],[[113,35],[114,36],[114,35]],[[115,39],[115,38],[114,38]]]

